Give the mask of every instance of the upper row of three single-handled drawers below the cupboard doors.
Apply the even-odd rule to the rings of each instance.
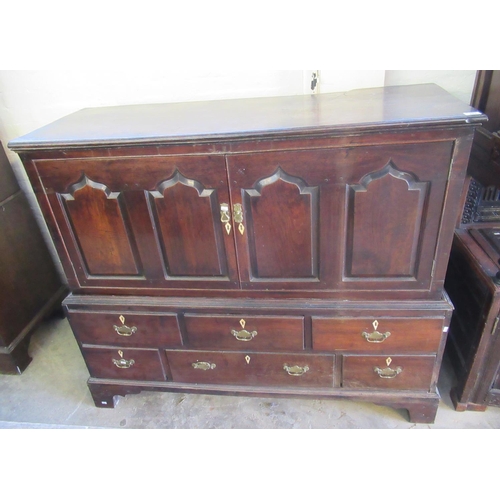
[[[301,351],[302,316],[235,316],[70,312],[83,344],[194,349]],[[182,342],[183,322],[185,343]],[[312,318],[312,347],[319,351],[435,352],[443,318]]]

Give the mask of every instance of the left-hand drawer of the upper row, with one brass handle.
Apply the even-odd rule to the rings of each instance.
[[[175,314],[69,312],[68,320],[83,344],[178,347],[181,335]]]

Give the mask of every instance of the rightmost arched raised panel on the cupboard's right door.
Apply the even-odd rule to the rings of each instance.
[[[416,279],[427,192],[392,161],[348,186],[346,277]]]

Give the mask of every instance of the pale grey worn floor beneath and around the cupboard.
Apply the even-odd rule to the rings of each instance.
[[[456,412],[445,360],[434,424],[408,422],[406,411],[343,400],[247,398],[143,392],[96,408],[88,371],[65,319],[52,319],[31,340],[22,375],[0,375],[0,428],[105,429],[499,429],[500,408]]]

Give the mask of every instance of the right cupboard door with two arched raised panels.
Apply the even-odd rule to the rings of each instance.
[[[228,158],[242,288],[429,289],[452,146]]]

